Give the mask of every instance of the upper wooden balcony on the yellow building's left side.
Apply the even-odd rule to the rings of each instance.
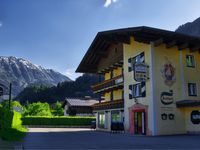
[[[101,93],[113,89],[123,88],[123,85],[124,85],[123,75],[119,75],[112,79],[105,80],[99,84],[93,85],[92,90],[94,91],[94,93]]]

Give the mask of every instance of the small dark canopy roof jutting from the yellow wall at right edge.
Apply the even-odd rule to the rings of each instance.
[[[178,108],[200,106],[200,100],[181,100],[176,102],[176,106]]]

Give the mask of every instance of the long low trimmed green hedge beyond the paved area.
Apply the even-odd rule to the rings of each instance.
[[[95,117],[24,117],[23,125],[68,125],[68,126],[87,126],[91,125]]]

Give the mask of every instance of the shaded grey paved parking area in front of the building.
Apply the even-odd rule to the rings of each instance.
[[[17,149],[199,149],[200,135],[134,136],[83,128],[30,128]]]

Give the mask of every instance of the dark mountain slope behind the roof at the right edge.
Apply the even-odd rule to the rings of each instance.
[[[193,22],[188,22],[179,26],[176,32],[199,36],[200,37],[200,17]]]

